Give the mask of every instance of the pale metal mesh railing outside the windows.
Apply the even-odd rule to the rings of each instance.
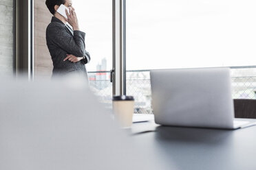
[[[134,96],[134,112],[136,113],[152,113],[149,73],[150,70],[127,71],[127,95]],[[98,96],[101,102],[107,104],[110,108],[112,98],[110,72],[88,72],[88,77],[92,91]],[[233,76],[231,80],[234,99],[256,99],[256,76]]]

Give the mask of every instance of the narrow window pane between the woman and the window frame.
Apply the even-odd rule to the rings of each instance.
[[[112,84],[112,1],[73,1],[80,29],[86,33],[86,50],[91,61],[86,65],[89,84],[100,101],[111,108]]]

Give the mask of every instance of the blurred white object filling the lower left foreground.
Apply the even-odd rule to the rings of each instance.
[[[77,83],[1,82],[1,170],[164,169]]]

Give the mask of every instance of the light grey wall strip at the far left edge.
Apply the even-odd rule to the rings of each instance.
[[[0,75],[13,73],[13,1],[0,0]]]

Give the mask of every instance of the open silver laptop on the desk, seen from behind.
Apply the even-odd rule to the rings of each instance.
[[[160,125],[237,129],[255,125],[234,118],[229,68],[153,70],[151,91]]]

